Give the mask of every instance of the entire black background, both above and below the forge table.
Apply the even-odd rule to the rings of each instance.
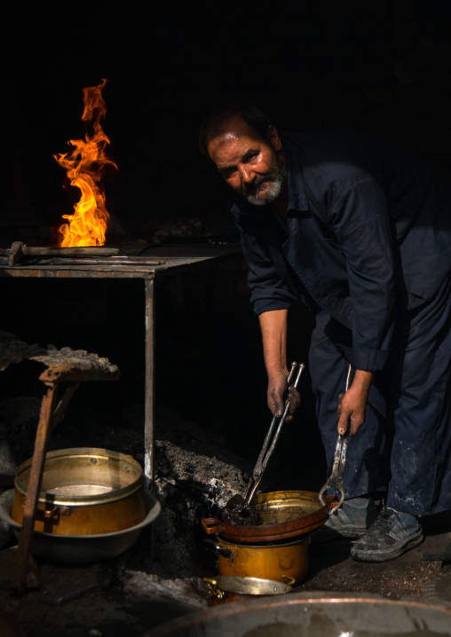
[[[103,128],[119,167],[105,180],[107,208],[120,238],[146,243],[158,224],[179,217],[233,229],[225,186],[197,150],[199,125],[222,99],[250,99],[281,130],[360,130],[451,180],[448,0],[21,3],[8,16],[0,43],[4,247],[48,244],[51,225],[71,213],[78,192],[62,187],[65,172],[52,155],[82,137],[82,90],[104,77]],[[123,405],[142,405],[138,284],[1,286],[4,329],[28,342],[94,350],[121,367],[117,389],[83,389],[73,408],[83,417],[83,397],[97,397],[91,432],[123,427]],[[159,291],[157,397],[233,449],[244,446],[254,462],[269,421],[248,294],[241,264],[213,284],[209,275],[187,277]],[[304,308],[297,314],[304,331],[292,328],[290,348],[305,359],[312,322]],[[299,418],[313,422],[305,393]],[[102,413],[108,420],[100,422]],[[316,459],[316,434],[300,431],[297,445],[287,434],[292,458]]]

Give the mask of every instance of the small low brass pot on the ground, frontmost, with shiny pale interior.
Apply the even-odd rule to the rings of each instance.
[[[209,586],[209,601],[212,606],[220,603],[240,602],[255,598],[256,595],[280,595],[290,593],[294,584],[291,578],[284,581],[239,576],[203,578]]]

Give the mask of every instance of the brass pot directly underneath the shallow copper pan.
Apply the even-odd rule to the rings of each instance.
[[[298,584],[308,570],[309,537],[267,544],[231,542],[217,536],[205,542],[218,553],[220,575],[292,580]]]

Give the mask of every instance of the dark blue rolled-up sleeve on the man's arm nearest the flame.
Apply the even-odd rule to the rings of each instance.
[[[266,237],[264,224],[236,208],[233,218],[241,234],[243,256],[249,266],[248,285],[250,302],[256,314],[289,308],[297,298],[281,279],[274,263]]]

